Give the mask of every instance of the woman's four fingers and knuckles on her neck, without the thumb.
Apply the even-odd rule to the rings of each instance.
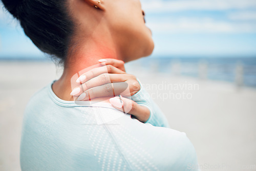
[[[76,80],[80,86],[70,95],[77,100],[90,100],[97,97],[133,96],[140,90],[136,77],[125,73],[124,62],[117,59],[100,59],[101,67],[94,68]]]

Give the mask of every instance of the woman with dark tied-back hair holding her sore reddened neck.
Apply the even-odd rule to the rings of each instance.
[[[139,0],[2,2],[34,44],[64,66],[27,105],[22,170],[195,168],[186,135],[168,128],[136,77],[125,73],[122,61],[154,49]]]

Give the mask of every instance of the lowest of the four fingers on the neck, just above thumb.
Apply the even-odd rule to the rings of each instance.
[[[102,86],[97,86],[91,88],[87,91],[84,91],[77,100],[91,100],[97,97],[114,97],[115,95],[126,95],[130,94],[130,90],[128,84],[126,82],[114,82],[114,83],[107,83]]]

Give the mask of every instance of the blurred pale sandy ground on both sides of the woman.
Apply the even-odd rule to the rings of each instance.
[[[148,73],[128,63],[166,115],[194,144],[201,170],[256,170],[256,89]],[[0,170],[18,171],[23,112],[61,70],[52,62],[0,61]]]

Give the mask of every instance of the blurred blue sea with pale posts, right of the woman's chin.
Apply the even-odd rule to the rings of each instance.
[[[220,80],[256,88],[256,57],[150,57],[139,59],[143,70]]]

